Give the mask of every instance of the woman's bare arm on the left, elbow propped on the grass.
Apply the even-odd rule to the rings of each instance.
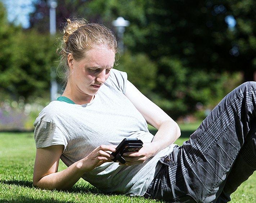
[[[103,162],[110,162],[113,156],[107,151],[115,151],[108,145],[101,145],[84,159],[81,159],[63,171],[58,171],[63,145],[37,148],[34,166],[33,185],[43,189],[67,189],[72,187],[86,171],[93,170]]]

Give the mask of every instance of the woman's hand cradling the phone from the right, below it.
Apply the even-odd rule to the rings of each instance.
[[[142,164],[150,157],[156,155],[157,143],[144,143],[143,147],[138,152],[125,152],[123,158],[125,159],[125,164],[119,163],[119,165],[131,166],[135,164]]]

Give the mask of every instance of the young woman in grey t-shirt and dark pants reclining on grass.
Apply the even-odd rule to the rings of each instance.
[[[228,202],[256,169],[256,83],[229,93],[183,146],[178,125],[113,69],[117,43],[104,25],[67,20],[60,53],[66,89],[35,125],[33,184],[67,189],[81,177],[104,192],[170,202]],[[145,84],[146,85],[146,84]],[[149,133],[147,123],[158,129]],[[123,138],[143,147],[113,162]],[[68,167],[58,171],[59,159]]]

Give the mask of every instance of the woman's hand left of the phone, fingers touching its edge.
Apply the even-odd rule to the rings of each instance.
[[[114,156],[111,155],[116,149],[110,145],[100,145],[95,148],[88,156],[82,159],[81,168],[86,171],[91,171],[95,167],[102,165],[105,162],[111,162]]]

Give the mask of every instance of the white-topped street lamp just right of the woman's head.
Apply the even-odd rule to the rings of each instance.
[[[112,21],[112,25],[117,28],[117,37],[119,39],[118,49],[120,50],[120,53],[123,53],[123,33],[125,32],[125,27],[130,25],[130,22],[123,17],[118,17],[116,20]]]

